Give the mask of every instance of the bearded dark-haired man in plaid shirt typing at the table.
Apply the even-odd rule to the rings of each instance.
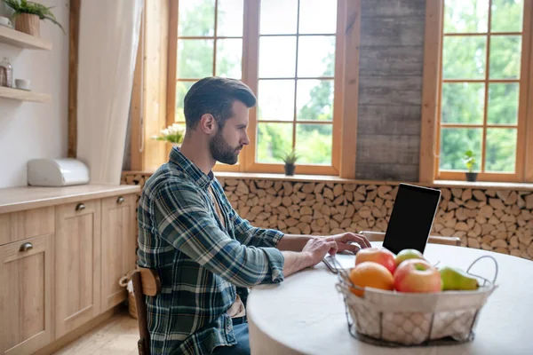
[[[139,201],[139,265],[155,269],[162,293],[147,297],[152,353],[249,354],[248,288],[370,246],[360,235],[287,235],[243,220],[211,172],[235,164],[250,143],[256,98],[243,83],[209,77],[184,102],[186,136],[150,177]]]

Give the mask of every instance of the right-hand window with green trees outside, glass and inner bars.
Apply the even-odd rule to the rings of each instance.
[[[470,150],[479,180],[523,181],[531,4],[444,0],[442,16],[435,176],[464,179]]]

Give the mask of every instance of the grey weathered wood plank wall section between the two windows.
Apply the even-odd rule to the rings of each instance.
[[[417,181],[424,0],[362,0],[356,178]]]

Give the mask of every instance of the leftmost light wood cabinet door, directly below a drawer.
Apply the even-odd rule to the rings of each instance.
[[[52,342],[53,234],[0,247],[0,354]]]

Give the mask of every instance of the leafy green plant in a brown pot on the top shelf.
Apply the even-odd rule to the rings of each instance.
[[[15,29],[31,36],[40,36],[41,28],[39,20],[50,20],[58,25],[63,33],[65,29],[56,20],[51,9],[44,4],[38,4],[28,0],[2,0],[4,4],[12,8],[12,19],[15,20]]]

